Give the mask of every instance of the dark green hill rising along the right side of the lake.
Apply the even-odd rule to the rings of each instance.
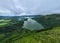
[[[60,26],[60,14],[45,15],[34,19],[46,28]]]

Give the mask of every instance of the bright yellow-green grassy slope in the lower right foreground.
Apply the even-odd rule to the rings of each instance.
[[[32,32],[30,35],[19,38],[14,43],[60,43],[60,27],[51,30]]]

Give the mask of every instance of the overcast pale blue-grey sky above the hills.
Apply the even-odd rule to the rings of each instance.
[[[0,16],[60,13],[60,0],[0,0]]]

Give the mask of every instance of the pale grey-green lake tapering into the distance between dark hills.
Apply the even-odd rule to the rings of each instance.
[[[29,29],[29,30],[40,30],[44,29],[44,27],[38,23],[37,21],[28,18],[27,21],[24,21],[23,28]]]

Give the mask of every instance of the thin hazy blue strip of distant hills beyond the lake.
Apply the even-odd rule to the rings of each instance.
[[[23,15],[23,16],[0,16],[0,19],[8,19],[8,18],[34,18],[41,17],[42,15]]]

